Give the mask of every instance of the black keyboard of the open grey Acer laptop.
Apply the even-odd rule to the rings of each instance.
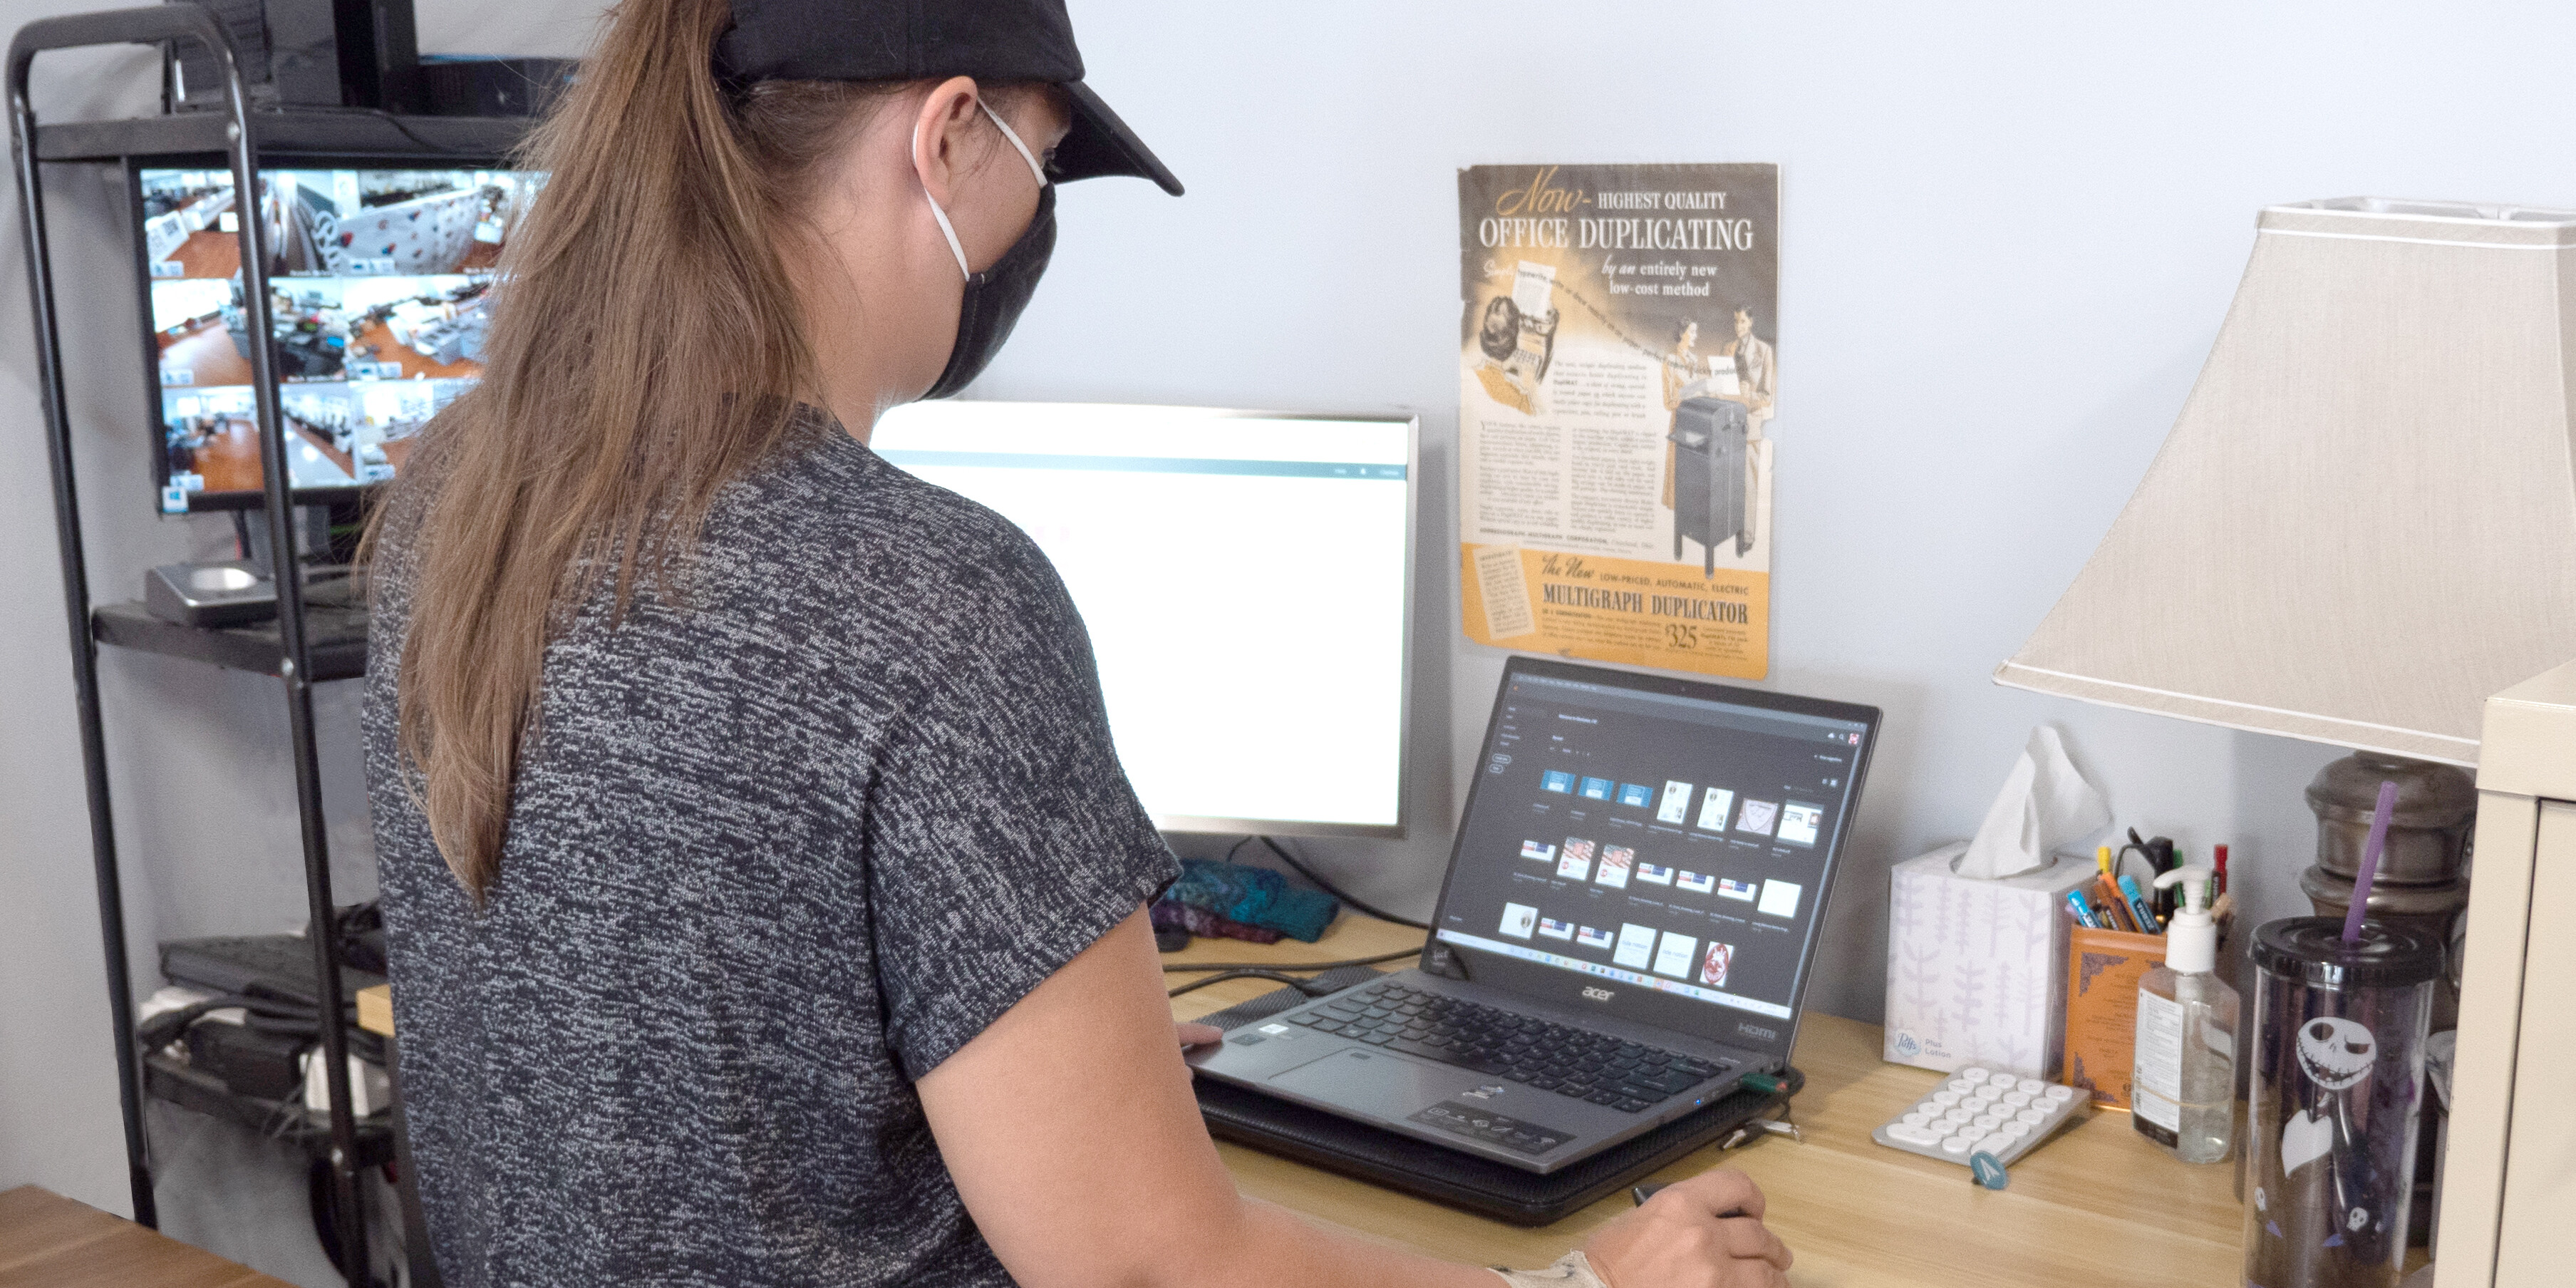
[[[1288,1023],[1620,1113],[1643,1113],[1734,1069],[1728,1059],[1692,1059],[1399,984],[1368,984]]]

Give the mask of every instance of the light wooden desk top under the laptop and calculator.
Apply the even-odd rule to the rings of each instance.
[[[1345,914],[1319,943],[1198,940],[1180,961],[1337,961],[1419,945],[1422,933]],[[1394,963],[1394,966],[1401,966]],[[1175,974],[1175,984],[1198,979]],[[1172,1018],[1224,1010],[1278,984],[1236,979],[1172,999]],[[1806,1144],[1759,1136],[1700,1149],[1656,1172],[1680,1180],[1741,1167],[1770,1195],[1770,1226],[1798,1255],[1801,1288],[1865,1285],[2231,1285],[2244,1273],[2231,1167],[2190,1167],[2146,1144],[2125,1113],[2097,1113],[2014,1164],[2012,1188],[1978,1190],[1968,1170],[1886,1149],[1870,1131],[1940,1074],[1883,1064],[1878,1028],[1808,1015],[1798,1033]],[[1546,1265],[1631,1208],[1605,1198],[1553,1226],[1520,1229],[1218,1141],[1236,1185],[1321,1226],[1476,1265]]]

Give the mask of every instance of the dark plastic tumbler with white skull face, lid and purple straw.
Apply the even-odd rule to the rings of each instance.
[[[2287,917],[2254,930],[2246,1285],[2396,1288],[2442,945]]]

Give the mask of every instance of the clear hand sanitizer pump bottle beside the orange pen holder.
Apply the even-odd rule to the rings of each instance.
[[[2202,866],[2174,868],[2182,912],[2164,930],[2164,966],[2138,981],[2130,1123],[2182,1162],[2223,1162],[2236,1133],[2236,989],[2218,979],[2218,922]]]

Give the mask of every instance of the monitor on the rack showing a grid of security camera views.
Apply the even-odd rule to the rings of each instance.
[[[541,175],[260,170],[270,358],[299,502],[392,479],[412,435],[482,376],[500,250]],[[232,170],[137,170],[160,510],[260,505]]]

